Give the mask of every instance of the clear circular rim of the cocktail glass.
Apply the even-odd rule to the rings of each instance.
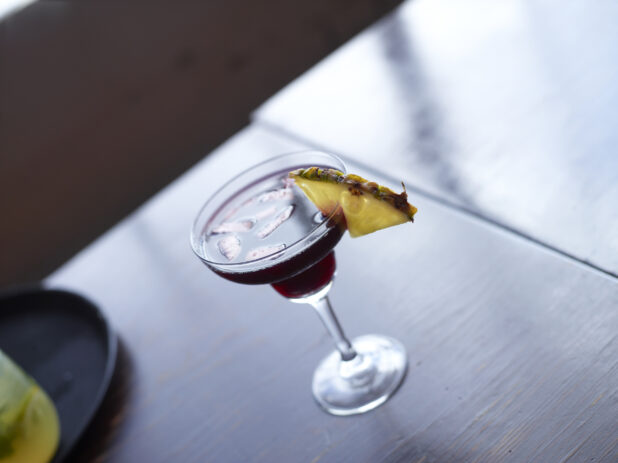
[[[200,223],[200,219],[202,219],[202,215],[204,213],[204,211],[211,206],[215,200],[217,199],[217,196],[223,191],[225,190],[227,187],[229,187],[230,185],[232,185],[234,182],[238,181],[238,179],[240,179],[241,177],[247,175],[248,173],[250,173],[251,171],[254,171],[260,167],[263,167],[266,164],[269,163],[276,163],[277,161],[283,159],[283,158],[287,158],[287,157],[291,157],[294,155],[302,155],[302,154],[311,154],[311,153],[316,153],[319,155],[323,155],[323,156],[328,156],[330,158],[332,158],[334,160],[334,164],[338,163],[341,167],[341,170],[344,174],[346,173],[346,166],[345,163],[343,162],[343,160],[341,158],[339,158],[338,156],[332,154],[332,153],[328,153],[326,151],[322,151],[319,149],[305,149],[305,150],[299,150],[299,151],[291,151],[288,153],[283,153],[283,154],[279,154],[277,156],[273,156],[271,158],[265,159],[264,161],[261,161],[257,164],[254,164],[244,170],[242,170],[241,172],[239,172],[238,174],[236,174],[235,176],[233,176],[232,178],[230,178],[229,180],[227,180],[225,183],[223,183],[219,188],[217,188],[217,190],[210,195],[210,197],[202,204],[202,206],[200,206],[199,211],[197,212],[197,214],[195,215],[195,219],[193,220],[192,226],[191,226],[191,234],[190,234],[190,241],[191,241],[191,248],[193,250],[193,252],[195,253],[195,255],[197,257],[200,258],[200,260],[202,262],[204,262],[205,264],[215,267],[217,269],[229,269],[229,271],[231,273],[239,273],[239,272],[235,272],[233,269],[237,269],[237,268],[242,268],[244,266],[255,266],[255,265],[259,265],[260,263],[263,262],[269,262],[269,261],[273,261],[273,263],[271,265],[268,265],[268,267],[275,265],[276,262],[280,261],[281,259],[279,259],[281,256],[284,256],[286,254],[292,254],[292,255],[296,255],[297,254],[297,250],[300,248],[301,250],[303,249],[301,244],[306,242],[307,240],[309,240],[311,237],[314,236],[320,236],[322,233],[325,233],[328,228],[326,227],[328,222],[335,217],[339,211],[341,210],[341,206],[336,207],[335,209],[333,209],[333,211],[328,215],[328,216],[324,216],[323,215],[323,219],[319,222],[316,223],[315,227],[313,227],[311,229],[311,231],[309,231],[308,233],[306,233],[304,236],[302,236],[301,238],[299,238],[298,240],[294,241],[293,243],[291,243],[289,246],[286,246],[283,249],[280,249],[279,251],[276,251],[272,254],[269,254],[267,256],[264,257],[260,257],[258,259],[253,259],[253,260],[246,260],[246,261],[242,261],[242,262],[218,262],[218,261],[214,261],[214,260],[210,260],[206,258],[206,254],[200,252],[199,250],[199,238],[202,235],[202,230],[199,231],[199,233],[196,232],[196,228],[198,228],[198,224]],[[301,168],[303,166],[302,163],[298,164],[298,167],[296,168]],[[309,165],[309,164],[305,164],[306,167],[313,167],[313,165]],[[329,166],[329,168],[335,168],[335,167],[339,167],[339,166]],[[284,170],[284,169],[282,169]],[[291,169],[293,170],[293,169]],[[240,189],[237,189],[236,191],[239,191]],[[212,215],[208,218],[210,219],[212,217]],[[208,223],[208,221],[206,221],[206,224]],[[323,230],[323,231],[322,231]]]

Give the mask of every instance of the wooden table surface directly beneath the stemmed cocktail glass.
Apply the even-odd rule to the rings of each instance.
[[[303,147],[250,126],[48,278],[121,341],[70,461],[617,461],[616,279],[417,193],[416,223],[342,240],[332,290],[351,337],[403,342],[408,376],[370,413],[321,411],[332,346],[312,309],[217,277],[188,240],[241,166]]]

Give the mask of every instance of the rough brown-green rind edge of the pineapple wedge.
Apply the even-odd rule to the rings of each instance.
[[[411,222],[414,222],[414,214],[416,214],[417,209],[408,203],[408,194],[405,191],[405,186],[403,192],[395,193],[390,188],[378,185],[376,182],[370,182],[359,175],[346,175],[336,169],[322,169],[320,167],[296,169],[290,172],[288,176],[292,179],[300,177],[306,180],[340,183],[347,186],[348,191],[353,195],[373,195],[374,198],[386,201],[395,209],[403,212]]]

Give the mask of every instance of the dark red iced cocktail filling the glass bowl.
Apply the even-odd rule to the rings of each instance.
[[[202,229],[200,248],[220,276],[272,284],[281,295],[300,298],[332,280],[333,248],[345,220],[338,211],[324,217],[288,172],[262,177],[219,206]]]

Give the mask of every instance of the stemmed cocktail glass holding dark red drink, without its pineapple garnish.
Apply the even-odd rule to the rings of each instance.
[[[270,284],[294,303],[313,306],[336,350],[313,375],[316,401],[334,415],[353,415],[384,403],[407,369],[403,346],[381,335],[352,342],[328,299],[335,275],[333,248],[345,232],[337,206],[322,215],[287,174],[302,167],[332,168],[343,162],[320,151],[269,159],[223,185],[202,207],[191,245],[211,270],[228,280]]]

